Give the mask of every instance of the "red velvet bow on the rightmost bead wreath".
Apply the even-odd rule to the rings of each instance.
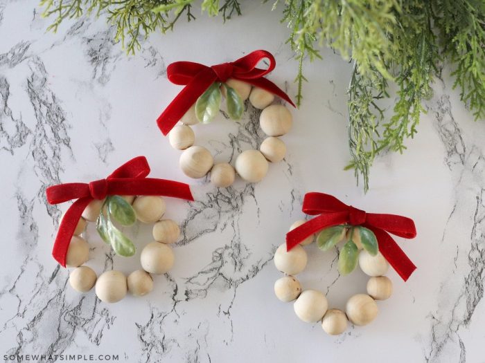
[[[349,223],[350,225],[362,225],[376,234],[380,253],[404,281],[416,270],[414,263],[389,236],[391,233],[405,239],[414,238],[416,227],[411,218],[395,214],[366,213],[342,203],[335,196],[315,192],[305,194],[301,210],[312,216],[319,215],[286,234],[288,251],[325,227]]]

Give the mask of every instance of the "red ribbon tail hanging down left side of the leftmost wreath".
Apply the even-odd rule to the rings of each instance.
[[[52,249],[52,256],[62,267],[66,267],[66,255],[69,243],[71,243],[71,238],[74,234],[74,230],[76,230],[79,218],[81,218],[82,212],[90,201],[92,201],[92,198],[90,197],[78,199],[71,205],[71,207],[69,207],[64,218],[62,218]]]

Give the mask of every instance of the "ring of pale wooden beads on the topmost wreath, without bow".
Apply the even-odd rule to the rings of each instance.
[[[190,178],[204,178],[211,173],[211,183],[217,187],[229,187],[234,183],[236,173],[249,183],[258,183],[267,174],[268,162],[279,162],[286,154],[286,145],[279,136],[288,133],[292,127],[292,114],[281,104],[272,104],[274,95],[264,89],[252,87],[251,84],[240,80],[228,80],[228,86],[233,88],[245,101],[256,108],[262,109],[259,124],[268,136],[259,150],[249,149],[240,153],[234,167],[228,162],[214,164],[211,152],[205,147],[194,145],[195,133],[192,125],[198,124],[195,115],[195,104],[168,133],[168,140],[174,149],[183,150],[179,165],[184,174]],[[224,85],[221,86],[222,95],[226,95]]]

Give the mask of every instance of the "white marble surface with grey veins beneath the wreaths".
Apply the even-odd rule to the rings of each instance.
[[[245,16],[222,27],[202,16],[156,35],[135,57],[113,44],[103,19],[66,22],[45,32],[48,19],[32,1],[0,1],[0,356],[9,354],[116,354],[125,362],[485,362],[484,142],[451,89],[445,68],[427,102],[419,132],[402,155],[376,160],[364,195],[343,171],[346,85],[351,66],[330,51],[306,64],[308,84],[294,129],[284,137],[288,156],[258,185],[216,189],[194,183],[178,168],[179,152],[155,119],[179,91],[166,65],[182,59],[204,64],[236,59],[264,48],[278,65],[270,78],[296,93],[297,63],[284,44],[288,30],[270,4],[244,6]],[[247,149],[262,140],[250,127],[218,120],[197,127],[213,151]],[[246,127],[249,124],[249,127]],[[152,176],[193,185],[197,202],[170,201],[169,216],[183,225],[176,266],[155,279],[147,297],[107,305],[94,292],[78,295],[67,270],[51,257],[58,217],[67,205],[46,205],[48,185],[102,178],[137,155]],[[320,191],[371,212],[414,218],[418,237],[398,239],[418,270],[403,283],[394,271],[394,295],[379,303],[367,327],[328,337],[304,324],[273,294],[280,276],[272,254],[303,194]],[[150,228],[135,230],[140,244]],[[130,272],[88,230],[89,261],[97,272]],[[362,272],[339,277],[336,252],[308,248],[303,286],[328,293],[342,308],[361,292]]]

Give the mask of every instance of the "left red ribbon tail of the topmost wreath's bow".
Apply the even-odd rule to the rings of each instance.
[[[217,80],[217,75],[211,68],[206,68],[197,74],[182,91],[173,99],[164,112],[157,118],[159,129],[164,135],[179,122],[183,115],[191,108],[197,98]]]

